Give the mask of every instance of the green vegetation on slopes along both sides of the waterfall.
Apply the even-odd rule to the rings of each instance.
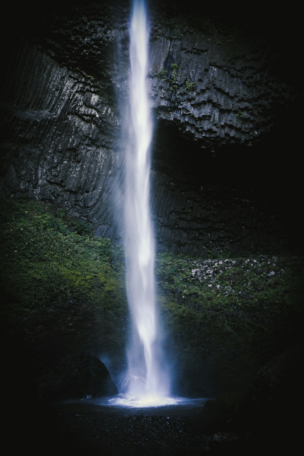
[[[51,203],[3,200],[0,211],[3,317],[14,339],[44,352],[57,334],[60,353],[91,341],[121,356],[129,325],[122,249]],[[302,342],[303,264],[289,254],[158,254],[160,322],[180,377],[201,384],[203,373],[219,391],[244,389],[274,354]]]

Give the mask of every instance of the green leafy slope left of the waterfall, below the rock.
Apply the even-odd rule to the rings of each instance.
[[[8,322],[19,324],[39,314],[51,324],[49,314],[60,308],[76,320],[88,311],[100,321],[104,343],[124,345],[121,249],[94,237],[84,220],[65,216],[51,203],[2,200],[0,211],[1,291]]]

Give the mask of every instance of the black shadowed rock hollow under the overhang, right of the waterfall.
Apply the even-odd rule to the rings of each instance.
[[[245,147],[204,153],[175,125],[159,126],[155,142],[152,204],[161,250],[299,245],[297,196],[272,154]]]

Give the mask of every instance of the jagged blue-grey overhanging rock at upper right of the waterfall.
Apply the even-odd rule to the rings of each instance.
[[[272,48],[242,30],[227,33],[229,38],[171,24],[160,26],[151,41],[153,107],[211,150],[263,141],[275,122],[274,108],[291,96],[271,71]]]

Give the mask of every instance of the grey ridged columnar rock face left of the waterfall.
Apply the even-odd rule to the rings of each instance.
[[[8,68],[2,192],[51,199],[89,219],[102,213],[101,234],[108,235],[119,123],[110,91],[27,40],[12,44]]]

